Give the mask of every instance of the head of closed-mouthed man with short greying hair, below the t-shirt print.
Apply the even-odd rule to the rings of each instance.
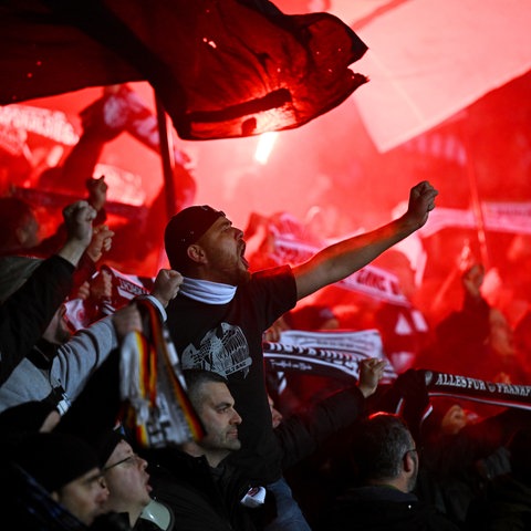
[[[222,376],[202,369],[186,369],[184,375],[190,403],[206,431],[199,441],[186,444],[185,451],[204,455],[216,467],[231,451],[241,448],[238,438],[241,417]]]

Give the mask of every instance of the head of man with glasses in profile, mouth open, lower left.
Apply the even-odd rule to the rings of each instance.
[[[144,508],[152,501],[147,461],[138,457],[132,446],[116,429],[103,431],[96,440],[108,499],[104,509],[124,513],[133,528]]]

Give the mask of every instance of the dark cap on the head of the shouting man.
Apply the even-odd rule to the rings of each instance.
[[[220,217],[221,210],[208,205],[185,208],[177,212],[166,226],[164,246],[173,269],[183,269],[186,263],[186,250],[195,243]]]

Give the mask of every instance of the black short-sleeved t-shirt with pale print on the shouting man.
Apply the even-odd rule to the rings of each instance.
[[[225,376],[242,417],[241,450],[229,460],[249,480],[270,483],[281,476],[264,383],[262,334],[296,303],[296,285],[285,266],[253,273],[227,304],[206,304],[179,294],[168,308],[167,325],[183,368]]]

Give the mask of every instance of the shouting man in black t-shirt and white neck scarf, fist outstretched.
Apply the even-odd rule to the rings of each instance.
[[[279,508],[293,500],[282,478],[281,449],[272,430],[262,334],[296,301],[348,277],[423,227],[436,196],[429,183],[419,183],[410,190],[407,212],[391,223],[330,246],[294,268],[253,274],[244,258],[243,232],[223,212],[194,206],[168,222],[166,252],[171,268],[184,275],[179,295],[168,306],[168,329],[183,367],[227,377],[243,419],[242,448],[229,459],[254,486],[269,486]],[[277,529],[309,529],[293,508],[281,510]],[[288,513],[293,519],[283,527],[281,519]]]

